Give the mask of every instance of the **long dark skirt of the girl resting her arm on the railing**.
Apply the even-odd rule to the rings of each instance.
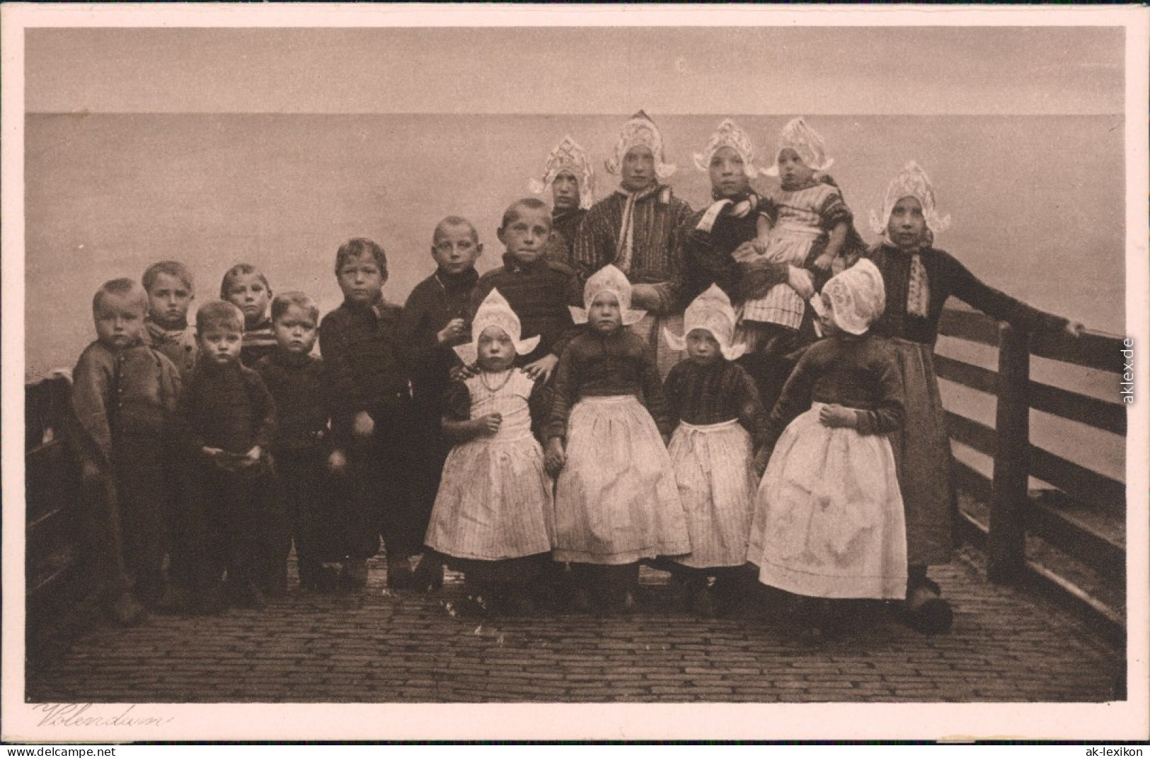
[[[920,566],[949,563],[957,505],[934,348],[903,339],[891,339],[890,345],[906,392],[906,421],[891,435],[891,443],[906,510],[907,559]]]

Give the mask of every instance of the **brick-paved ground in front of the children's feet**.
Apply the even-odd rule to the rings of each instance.
[[[1121,651],[1059,609],[988,585],[973,554],[931,572],[956,606],[925,637],[881,608],[805,647],[764,598],[733,618],[677,611],[643,573],[630,618],[482,622],[452,614],[461,586],[388,593],[378,565],[355,595],[299,595],[263,612],[101,624],[29,672],[30,702],[1102,702]]]

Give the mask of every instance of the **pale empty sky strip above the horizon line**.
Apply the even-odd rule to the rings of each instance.
[[[30,29],[25,40],[25,103],[41,113],[1124,110],[1124,30],[1105,26]]]

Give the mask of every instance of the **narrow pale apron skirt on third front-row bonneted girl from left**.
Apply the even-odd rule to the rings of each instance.
[[[667,448],[687,513],[692,568],[742,566],[754,513],[751,435],[738,419],[680,424]]]

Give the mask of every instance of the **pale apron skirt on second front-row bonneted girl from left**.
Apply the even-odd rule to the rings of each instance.
[[[621,565],[691,551],[670,457],[632,395],[584,397],[555,484],[555,560]]]

